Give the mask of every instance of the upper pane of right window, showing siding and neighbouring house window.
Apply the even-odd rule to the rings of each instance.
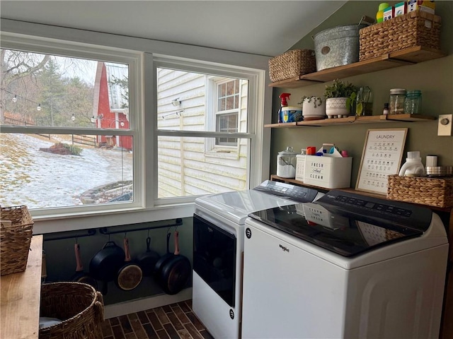
[[[216,114],[234,109],[241,121],[236,131],[247,131],[247,80],[164,68],[156,75],[158,129],[218,131]]]

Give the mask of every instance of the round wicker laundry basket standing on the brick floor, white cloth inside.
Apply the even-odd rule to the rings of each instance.
[[[41,287],[40,316],[62,320],[40,328],[40,339],[102,339],[101,292],[85,283],[50,283]]]

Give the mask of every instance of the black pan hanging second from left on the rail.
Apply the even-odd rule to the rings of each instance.
[[[118,270],[125,261],[125,251],[115,242],[106,242],[103,248],[91,258],[90,275],[96,280],[101,280],[101,292],[107,294],[108,281],[114,280]]]

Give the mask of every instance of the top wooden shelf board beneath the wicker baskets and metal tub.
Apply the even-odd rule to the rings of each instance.
[[[269,86],[277,88],[299,88],[314,85],[316,83],[325,83],[335,79],[382,71],[384,69],[418,64],[419,62],[442,58],[446,55],[447,54],[439,49],[415,46],[372,59],[358,61],[353,64],[323,69],[322,71],[304,74],[303,76],[298,76],[296,78],[276,81],[275,83],[270,83]]]

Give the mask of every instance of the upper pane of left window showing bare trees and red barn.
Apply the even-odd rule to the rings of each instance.
[[[125,64],[1,49],[0,121],[11,125],[129,128]]]

